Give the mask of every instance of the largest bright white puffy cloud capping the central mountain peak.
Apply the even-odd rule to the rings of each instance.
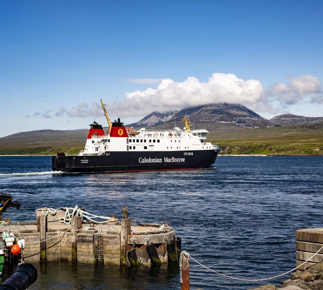
[[[163,79],[156,88],[125,93],[126,98],[109,106],[109,110],[123,117],[210,103],[251,105],[259,101],[262,94],[263,88],[258,80],[244,81],[234,74],[214,73],[207,82],[200,82],[195,77],[188,77],[184,82]]]

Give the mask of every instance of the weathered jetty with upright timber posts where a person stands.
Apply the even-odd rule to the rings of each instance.
[[[176,240],[180,238],[167,224],[131,225],[130,219],[122,219],[121,223],[106,222],[90,227],[89,223],[82,224],[80,216],[72,217],[71,224],[62,223],[60,219],[64,216],[64,210],[57,210],[55,215],[44,215],[39,209],[35,222],[4,225],[0,233],[13,231],[25,239],[26,246],[22,251],[25,262],[66,260],[150,265],[178,261],[180,241],[176,249]],[[173,245],[173,251],[170,245]]]

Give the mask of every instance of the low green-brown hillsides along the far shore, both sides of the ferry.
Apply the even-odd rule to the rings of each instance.
[[[87,130],[42,130],[0,138],[0,155],[77,154],[84,148]],[[208,141],[221,154],[323,155],[323,124],[210,132]]]

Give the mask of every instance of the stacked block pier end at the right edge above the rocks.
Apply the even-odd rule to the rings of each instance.
[[[323,228],[306,228],[296,230],[296,266],[309,259],[323,246]],[[299,270],[323,262],[323,250],[302,265]]]

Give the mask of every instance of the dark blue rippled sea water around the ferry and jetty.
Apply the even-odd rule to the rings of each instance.
[[[295,267],[295,230],[323,226],[323,157],[218,157],[207,170],[58,174],[50,157],[0,157],[0,192],[22,204],[5,216],[34,220],[35,209],[84,206],[95,214],[168,220],[182,250],[221,273],[266,278]],[[29,289],[180,289],[178,267],[47,263]],[[192,289],[246,289],[274,281],[230,280],[191,262]]]

